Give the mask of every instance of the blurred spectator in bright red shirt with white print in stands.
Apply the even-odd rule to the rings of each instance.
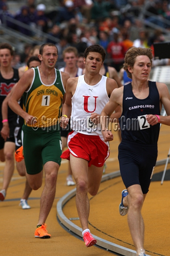
[[[112,60],[112,63],[108,63],[109,66],[113,66],[117,72],[123,67],[126,49],[123,42],[119,42],[120,30],[113,28],[113,41],[107,46],[108,58]]]

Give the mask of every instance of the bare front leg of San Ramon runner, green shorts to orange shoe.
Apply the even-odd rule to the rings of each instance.
[[[37,225],[45,223],[53,205],[59,164],[49,161],[44,164],[45,185],[40,200],[40,216]]]

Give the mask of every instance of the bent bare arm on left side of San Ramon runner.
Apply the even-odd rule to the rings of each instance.
[[[24,94],[25,91],[28,90],[28,88],[30,87],[32,80],[34,77],[34,70],[30,69],[27,70],[26,72],[24,72],[24,74],[22,75],[22,77],[20,78],[20,80],[18,81],[16,88],[12,94],[12,96],[10,97],[9,100],[9,106],[10,108],[19,116],[21,116],[22,118],[24,118],[26,120],[27,124],[31,124],[32,119],[34,118],[34,116],[30,116],[28,113],[26,113],[18,104],[18,100],[22,97],[22,95]]]

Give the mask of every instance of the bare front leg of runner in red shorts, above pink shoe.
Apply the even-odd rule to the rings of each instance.
[[[88,228],[89,198],[88,192],[88,161],[70,154],[71,170],[76,182],[76,207],[83,230]]]

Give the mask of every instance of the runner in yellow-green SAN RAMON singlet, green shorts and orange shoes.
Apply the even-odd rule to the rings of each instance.
[[[41,65],[24,72],[10,98],[10,108],[22,116],[22,142],[26,163],[26,176],[32,189],[45,185],[40,200],[40,216],[35,237],[50,238],[45,220],[55,198],[57,173],[61,164],[61,136],[59,118],[65,100],[65,87],[69,75],[55,69],[58,50],[54,44],[40,47]],[[18,99],[23,96],[23,109]]]

